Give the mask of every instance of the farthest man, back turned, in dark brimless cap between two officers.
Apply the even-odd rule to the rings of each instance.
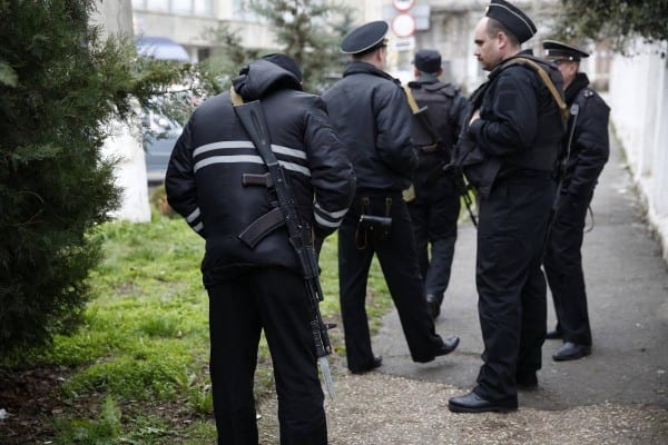
[[[409,200],[409,211],[426,305],[436,318],[450,283],[463,184],[455,169],[443,171],[443,167],[450,164],[466,100],[458,87],[439,80],[443,73],[439,51],[420,50],[413,63],[415,80],[409,82],[409,88],[420,111],[418,115],[413,111],[411,135],[420,161],[413,178],[415,197]]]

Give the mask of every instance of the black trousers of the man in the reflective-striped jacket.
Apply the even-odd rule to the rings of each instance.
[[[326,444],[304,279],[282,267],[249,268],[207,290],[218,445],[258,443],[253,383],[262,329],[274,365],[281,444]]]

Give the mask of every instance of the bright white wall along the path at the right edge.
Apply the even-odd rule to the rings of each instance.
[[[610,68],[611,120],[638,186],[647,217],[668,260],[667,42],[630,48]]]

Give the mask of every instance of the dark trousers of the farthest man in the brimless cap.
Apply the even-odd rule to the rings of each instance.
[[[429,162],[431,159],[434,161]],[[439,160],[434,156],[421,155],[420,164],[425,162],[429,167],[419,169],[415,175],[415,199],[409,202],[409,211],[415,235],[420,274],[424,278],[424,293],[433,295],[440,304],[443,303],[443,294],[450,283],[461,204],[450,172],[431,177],[434,168],[441,170]]]

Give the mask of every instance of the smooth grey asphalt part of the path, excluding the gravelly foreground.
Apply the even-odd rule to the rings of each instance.
[[[562,409],[622,403],[668,408],[668,270],[641,218],[621,156],[613,145],[595,194],[593,221],[587,224],[593,224],[593,230],[586,234],[582,249],[593,353],[556,363],[551,355],[560,342],[546,342],[540,389],[521,393],[520,406]],[[413,364],[393,312],[374,338],[374,353],[383,356],[382,373],[463,390],[474,386],[482,363],[474,260],[475,229],[465,222],[460,225],[452,279],[436,322],[441,335],[461,337],[459,349],[431,364]],[[551,328],[551,296],[548,306]]]

